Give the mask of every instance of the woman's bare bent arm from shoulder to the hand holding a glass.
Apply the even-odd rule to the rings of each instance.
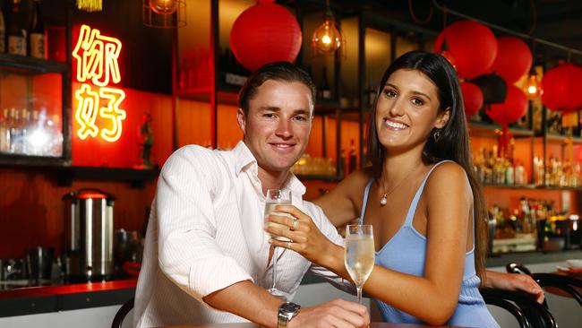
[[[453,163],[436,168],[424,190],[428,206],[424,277],[376,265],[364,290],[373,298],[426,323],[438,325],[447,322],[458,303],[473,196],[465,171]],[[269,229],[271,233],[294,241],[291,244],[272,241],[274,245],[290,248],[313,263],[350,279],[344,266],[342,246],[322,236],[312,220],[295,207],[279,206],[278,211],[291,213],[299,223],[295,230]],[[294,225],[292,219],[285,217],[270,216],[270,220],[289,227]],[[419,306],[421,304],[423,306]]]

